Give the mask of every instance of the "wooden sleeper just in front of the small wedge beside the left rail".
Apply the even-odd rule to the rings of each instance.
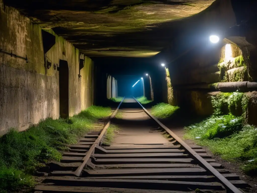
[[[188,154],[183,153],[124,153],[124,154],[93,154],[97,159],[111,159],[111,158],[187,158]]]

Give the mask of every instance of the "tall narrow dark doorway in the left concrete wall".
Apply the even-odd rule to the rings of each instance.
[[[60,117],[69,117],[69,67],[68,62],[60,60],[59,64]]]

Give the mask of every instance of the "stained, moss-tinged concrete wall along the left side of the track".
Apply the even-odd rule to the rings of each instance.
[[[44,66],[41,28],[0,0],[0,49],[26,57],[28,62],[0,52],[0,135],[10,127],[20,131],[40,119],[59,117],[60,59],[69,66],[69,116],[93,104],[93,62],[84,57],[84,68],[79,74],[79,50],[52,30],[56,43],[46,53],[52,62]]]

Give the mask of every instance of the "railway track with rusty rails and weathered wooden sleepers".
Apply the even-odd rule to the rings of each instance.
[[[154,128],[149,130],[165,130],[172,136],[170,142],[99,146],[123,101],[137,102],[139,112],[144,111],[155,122]],[[248,187],[236,174],[215,163],[200,146],[189,147],[135,98],[123,98],[107,123],[100,121],[98,125],[103,129],[87,133],[78,144],[70,146],[70,152],[65,152],[60,162],[49,164],[49,176],[34,188],[35,193],[185,193],[196,189],[242,193],[238,188]]]

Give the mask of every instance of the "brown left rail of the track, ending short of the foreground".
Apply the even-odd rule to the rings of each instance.
[[[124,100],[125,97],[123,97],[122,101]],[[115,116],[115,114],[117,113],[118,109],[121,106],[120,102],[119,106],[117,107],[117,109],[113,112],[112,116],[110,118],[113,118]],[[88,150],[86,156],[83,158],[83,163],[78,167],[78,169],[75,171],[75,175],[76,176],[80,176],[82,169],[84,168],[84,166],[86,165],[87,161],[89,160],[91,154],[94,152],[96,145],[101,141],[106,129],[109,127],[111,121],[109,120],[108,123],[105,125],[105,127],[103,128],[103,130],[101,131],[101,134],[98,136],[98,138],[96,139],[96,141],[94,142],[93,145],[91,145],[90,149]]]

